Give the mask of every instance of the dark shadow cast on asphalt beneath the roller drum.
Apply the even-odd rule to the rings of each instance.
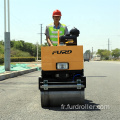
[[[99,109],[100,104],[96,104],[91,100],[85,100],[84,105],[61,105],[61,107],[46,107],[43,109],[49,109],[53,111],[101,111]]]

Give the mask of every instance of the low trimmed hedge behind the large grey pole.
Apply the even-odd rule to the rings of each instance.
[[[32,62],[36,57],[11,57],[11,62]],[[0,58],[0,64],[4,63],[4,58]]]

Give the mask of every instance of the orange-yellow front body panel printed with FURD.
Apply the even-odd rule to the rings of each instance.
[[[54,71],[56,63],[69,63],[69,70],[83,69],[83,46],[41,47],[42,70]]]

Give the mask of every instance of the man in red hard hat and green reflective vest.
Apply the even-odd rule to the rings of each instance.
[[[59,22],[61,16],[62,14],[59,10],[53,11],[52,17],[54,22],[46,26],[45,35],[49,46],[58,45],[58,30],[60,36],[68,34],[67,26]]]

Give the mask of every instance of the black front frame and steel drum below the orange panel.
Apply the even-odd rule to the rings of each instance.
[[[83,70],[82,70],[83,71]],[[42,71],[42,76],[39,77],[39,89],[41,94],[41,106],[42,107],[56,107],[62,104],[76,105],[84,104],[86,77],[77,76],[73,80],[73,77],[68,78],[48,78],[48,72]],[[52,76],[62,71],[51,72]],[[80,71],[64,71],[64,73],[80,73]],[[82,73],[83,75],[84,73]]]

